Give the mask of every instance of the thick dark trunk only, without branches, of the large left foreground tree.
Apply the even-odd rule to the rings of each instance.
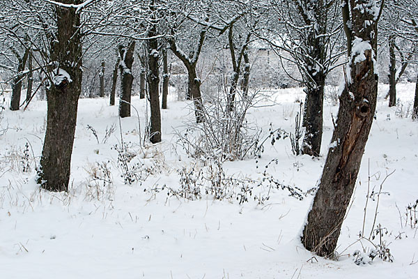
[[[80,3],[66,1],[65,3]],[[56,63],[47,89],[47,130],[38,170],[38,183],[50,191],[68,191],[77,105],[82,90],[82,34],[75,8],[55,8],[56,36],[51,61]]]

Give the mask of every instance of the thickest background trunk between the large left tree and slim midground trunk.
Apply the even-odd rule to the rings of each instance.
[[[122,57],[121,63],[119,63],[119,70],[121,70],[121,96],[119,98],[119,116],[130,116],[130,103],[132,96],[132,63],[134,63],[134,50],[135,41],[123,47],[119,45],[119,54]]]

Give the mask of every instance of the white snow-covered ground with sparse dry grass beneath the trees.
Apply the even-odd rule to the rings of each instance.
[[[418,232],[405,226],[405,207],[418,199],[418,123],[396,116],[408,110],[415,84],[399,84],[401,106],[387,107],[378,101],[376,120],[362,160],[353,204],[339,239],[339,260],[314,257],[299,240],[312,196],[302,201],[286,190],[271,190],[270,199],[258,204],[214,200],[204,195],[189,201],[151,191],[163,185],[178,188],[176,169],[192,163],[176,145],[175,130],[193,120],[189,102],[171,96],[169,110],[162,111],[163,142],[140,148],[138,119],[118,119],[118,107],[107,99],[82,99],[74,151],[70,193],[40,191],[35,183],[36,165],[42,151],[46,126],[45,101],[33,100],[25,112],[6,111],[0,137],[0,278],[417,278]],[[379,96],[387,86],[382,85]],[[249,111],[249,119],[263,128],[291,131],[302,89],[267,92],[275,101]],[[133,98],[144,129],[146,101]],[[325,101],[322,157],[294,156],[291,144],[280,140],[266,144],[263,156],[227,162],[229,174],[258,179],[265,165],[277,159],[267,172],[289,186],[306,191],[316,185],[324,165],[332,134],[332,115],[338,107]],[[116,127],[106,143],[106,128]],[[96,141],[91,130],[98,133]],[[132,142],[138,162],[151,174],[142,183],[127,186],[118,168],[121,133]],[[26,149],[26,143],[29,143]],[[25,157],[26,154],[26,157]],[[35,157],[35,160],[33,160]],[[107,163],[113,183],[96,186],[97,163]],[[23,172],[29,164],[29,172]],[[258,167],[257,167],[258,166]],[[381,224],[382,241],[393,262],[374,259],[357,266],[355,250],[370,250],[369,241],[357,241],[364,221],[364,205],[370,169],[370,193],[382,184],[376,225]],[[25,169],[26,170],[26,169]],[[146,176],[146,173],[144,173]],[[267,192],[269,189],[264,189]],[[263,191],[263,189],[261,189]],[[267,195],[267,193],[263,193]],[[376,211],[376,198],[369,199],[364,224],[368,237]],[[399,211],[398,211],[399,210]],[[376,227],[376,226],[375,226]],[[380,243],[377,236],[373,243]]]

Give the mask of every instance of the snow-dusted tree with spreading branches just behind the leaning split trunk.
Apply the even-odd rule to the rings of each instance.
[[[272,0],[270,5],[268,22],[264,23],[266,29],[272,31],[263,29],[270,35],[258,32],[258,37],[267,40],[282,61],[291,61],[297,66],[306,93],[302,153],[319,156],[325,80],[328,73],[339,66],[337,62],[343,55],[338,49],[339,3],[336,0]]]

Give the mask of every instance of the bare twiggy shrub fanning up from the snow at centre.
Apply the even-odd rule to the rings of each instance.
[[[210,96],[205,104],[203,123],[189,123],[177,131],[178,144],[193,158],[216,158],[219,162],[242,160],[254,153],[260,131],[247,121],[248,110],[260,100],[257,92],[242,96],[237,92],[234,109],[226,107],[226,95]]]

